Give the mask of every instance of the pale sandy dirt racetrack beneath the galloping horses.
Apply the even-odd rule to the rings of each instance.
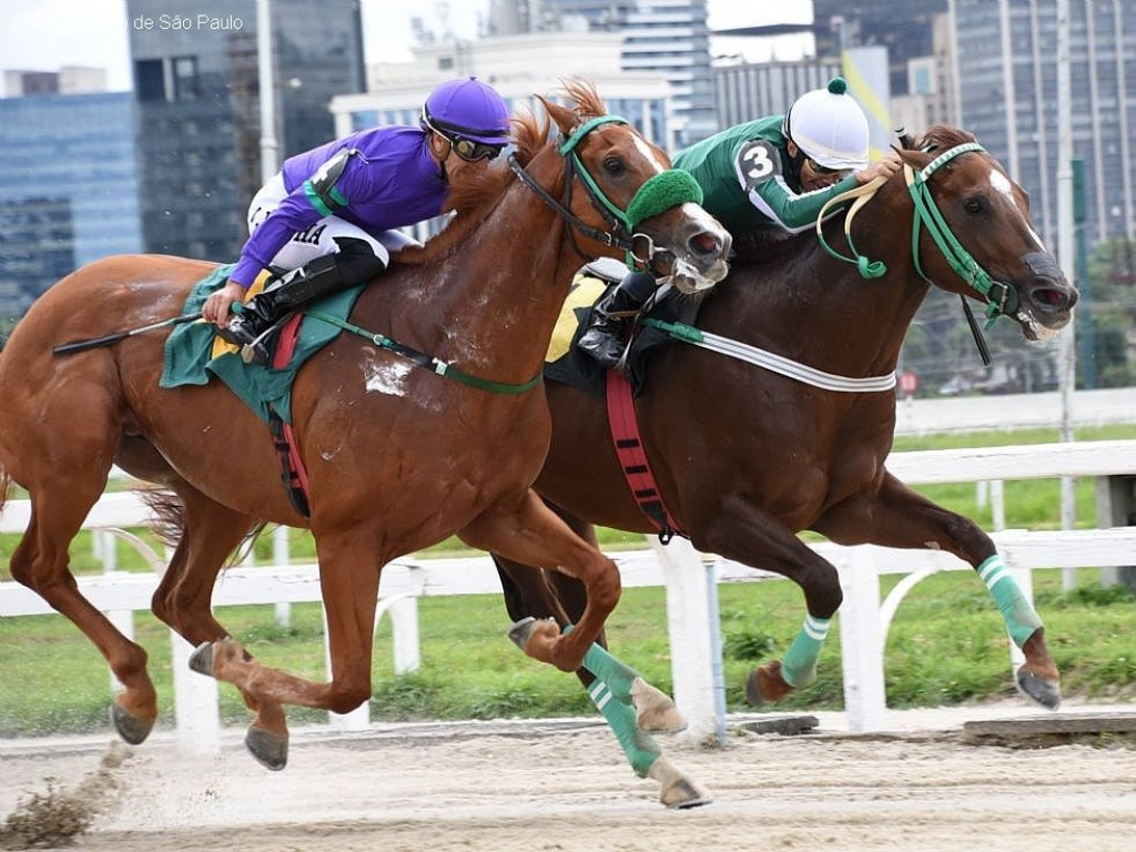
[[[871,736],[818,716],[819,733],[734,733],[721,751],[661,738],[713,796],[686,811],[662,808],[591,720],[309,729],[282,772],[235,732],[217,755],[183,754],[168,735],[133,749],[0,743],[0,825],[50,777],[107,805],[75,844],[97,852],[1136,849],[1131,742],[963,742],[962,721],[1001,718],[989,709],[903,716]]]

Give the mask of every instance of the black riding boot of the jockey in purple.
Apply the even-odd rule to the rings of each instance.
[[[242,306],[240,314],[228,320],[220,336],[242,346],[241,357],[247,362],[266,364],[268,346],[265,344],[277,323],[301,304],[348,286],[340,270],[336,254],[324,254],[286,273],[262,293]]]

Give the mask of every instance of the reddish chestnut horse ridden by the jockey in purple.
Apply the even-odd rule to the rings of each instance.
[[[532,379],[580,251],[645,256],[658,247],[675,281],[696,290],[725,275],[730,240],[691,201],[688,176],[669,170],[663,152],[604,116],[588,84],[566,89],[570,106],[541,99],[551,123],[516,119],[512,168],[454,192],[456,222],[404,252],[359,298],[351,320],[375,336],[341,335],[298,374],[292,421],[310,518],[281,486],[268,428],[228,389],[159,387],[167,335],[52,354],[56,344],[177,314],[214,265],[156,256],[98,261],[49,290],[19,323],[0,353],[0,495],[11,481],[23,485],[32,519],[11,574],[107,658],[125,686],[111,705],[124,738],[141,742],[158,713],[147,654],[82,596],[67,552],[111,465],[168,492],[167,517],[182,535],[153,612],[199,645],[198,670],[241,691],[256,713],[247,743],[270,768],[286,761],[283,704],[346,712],[370,698],[383,566],[450,535],[578,578],[588,604],[577,629],[535,635],[527,650],[568,671],[580,665],[619,598],[619,576],[529,490],[551,429]],[[567,140],[562,149],[553,124]],[[652,185],[661,193],[652,197]],[[379,345],[379,333],[429,353],[437,369],[415,369]],[[265,521],[315,536],[328,683],[262,666],[210,612],[219,569]]]

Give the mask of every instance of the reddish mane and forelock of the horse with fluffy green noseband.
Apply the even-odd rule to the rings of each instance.
[[[585,80],[561,81],[562,94],[569,100],[569,109],[583,122],[607,115],[608,109],[595,86]],[[521,168],[528,166],[537,152],[552,140],[553,125],[548,115],[538,119],[525,112],[510,119],[515,147],[513,156]],[[446,197],[443,214],[453,212],[445,228],[423,247],[412,247],[398,254],[400,262],[428,264],[453,252],[474,227],[477,226],[504,195],[506,187],[513,177],[508,164],[500,162],[481,174],[463,181]]]

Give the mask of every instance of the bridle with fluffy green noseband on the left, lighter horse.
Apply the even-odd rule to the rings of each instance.
[[[603,194],[603,190],[600,189],[592,175],[588,174],[584,164],[580,162],[579,156],[576,153],[576,147],[588,133],[600,125],[611,123],[628,124],[626,118],[620,118],[619,116],[592,118],[579,125],[560,145],[560,156],[565,158],[565,193],[563,199],[560,201],[552,198],[543,186],[537,184],[525,172],[515,154],[509,156],[509,167],[517,174],[525,186],[535,192],[576,231],[604,245],[623,249],[628,254],[628,266],[632,266],[633,262],[636,265],[646,265],[657,253],[654,241],[646,234],[636,233],[635,228],[645,219],[658,216],[665,210],[669,210],[687,201],[693,201],[696,204],[702,203],[702,187],[699,186],[688,172],[669,168],[666,172],[649,177],[636,190],[627,209],[620,210]],[[571,191],[575,177],[577,176],[592,206],[608,223],[608,231],[594,228],[571,212]],[[580,253],[583,254],[583,252]]]

